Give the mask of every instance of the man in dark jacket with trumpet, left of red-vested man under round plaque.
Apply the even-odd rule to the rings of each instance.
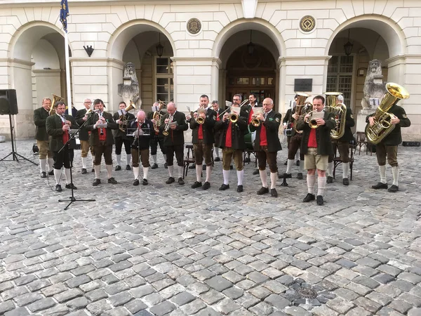
[[[174,179],[174,153],[178,164],[178,184],[184,185],[182,180],[183,172],[183,156],[184,156],[184,131],[187,131],[186,116],[184,113],[177,111],[175,103],[170,102],[167,105],[167,114],[162,117],[159,131],[163,133],[168,132],[168,135],[163,137],[163,145],[166,147],[168,164],[168,173],[170,177],[166,180],[166,184],[175,182]]]

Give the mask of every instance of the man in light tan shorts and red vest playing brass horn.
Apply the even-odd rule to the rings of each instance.
[[[313,98],[313,110],[322,112],[325,103],[323,96]],[[314,183],[317,169],[317,204],[323,205],[323,193],[326,188],[326,169],[328,169],[328,155],[332,154],[330,130],[335,127],[332,112],[323,112],[323,118],[316,119],[317,128],[312,129],[308,124],[309,114],[297,122],[298,131],[302,132],[301,152],[304,154],[304,168],[307,169],[308,193],[302,202],[314,201]]]

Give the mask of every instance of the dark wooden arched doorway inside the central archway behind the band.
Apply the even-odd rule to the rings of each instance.
[[[276,81],[276,63],[265,47],[240,46],[227,61],[225,100],[232,100],[237,93],[244,100],[254,93],[262,105],[265,98],[276,98]]]

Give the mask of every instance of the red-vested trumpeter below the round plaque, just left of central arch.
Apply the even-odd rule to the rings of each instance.
[[[196,164],[196,181],[192,184],[192,189],[202,187],[201,173],[203,160],[206,164],[206,180],[203,183],[203,190],[210,187],[210,173],[212,172],[212,147],[215,142],[213,127],[216,121],[216,112],[208,107],[209,98],[205,94],[200,96],[199,110],[194,112],[193,119],[190,119],[190,129],[192,129],[192,143],[194,159]],[[203,124],[199,124],[197,119],[203,119]]]

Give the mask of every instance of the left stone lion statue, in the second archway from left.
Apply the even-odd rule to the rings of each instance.
[[[135,103],[137,108],[142,106],[142,100],[139,98],[139,82],[136,76],[135,65],[133,62],[127,62],[124,65],[123,83],[119,84],[119,96],[123,98],[126,105],[130,101]]]

